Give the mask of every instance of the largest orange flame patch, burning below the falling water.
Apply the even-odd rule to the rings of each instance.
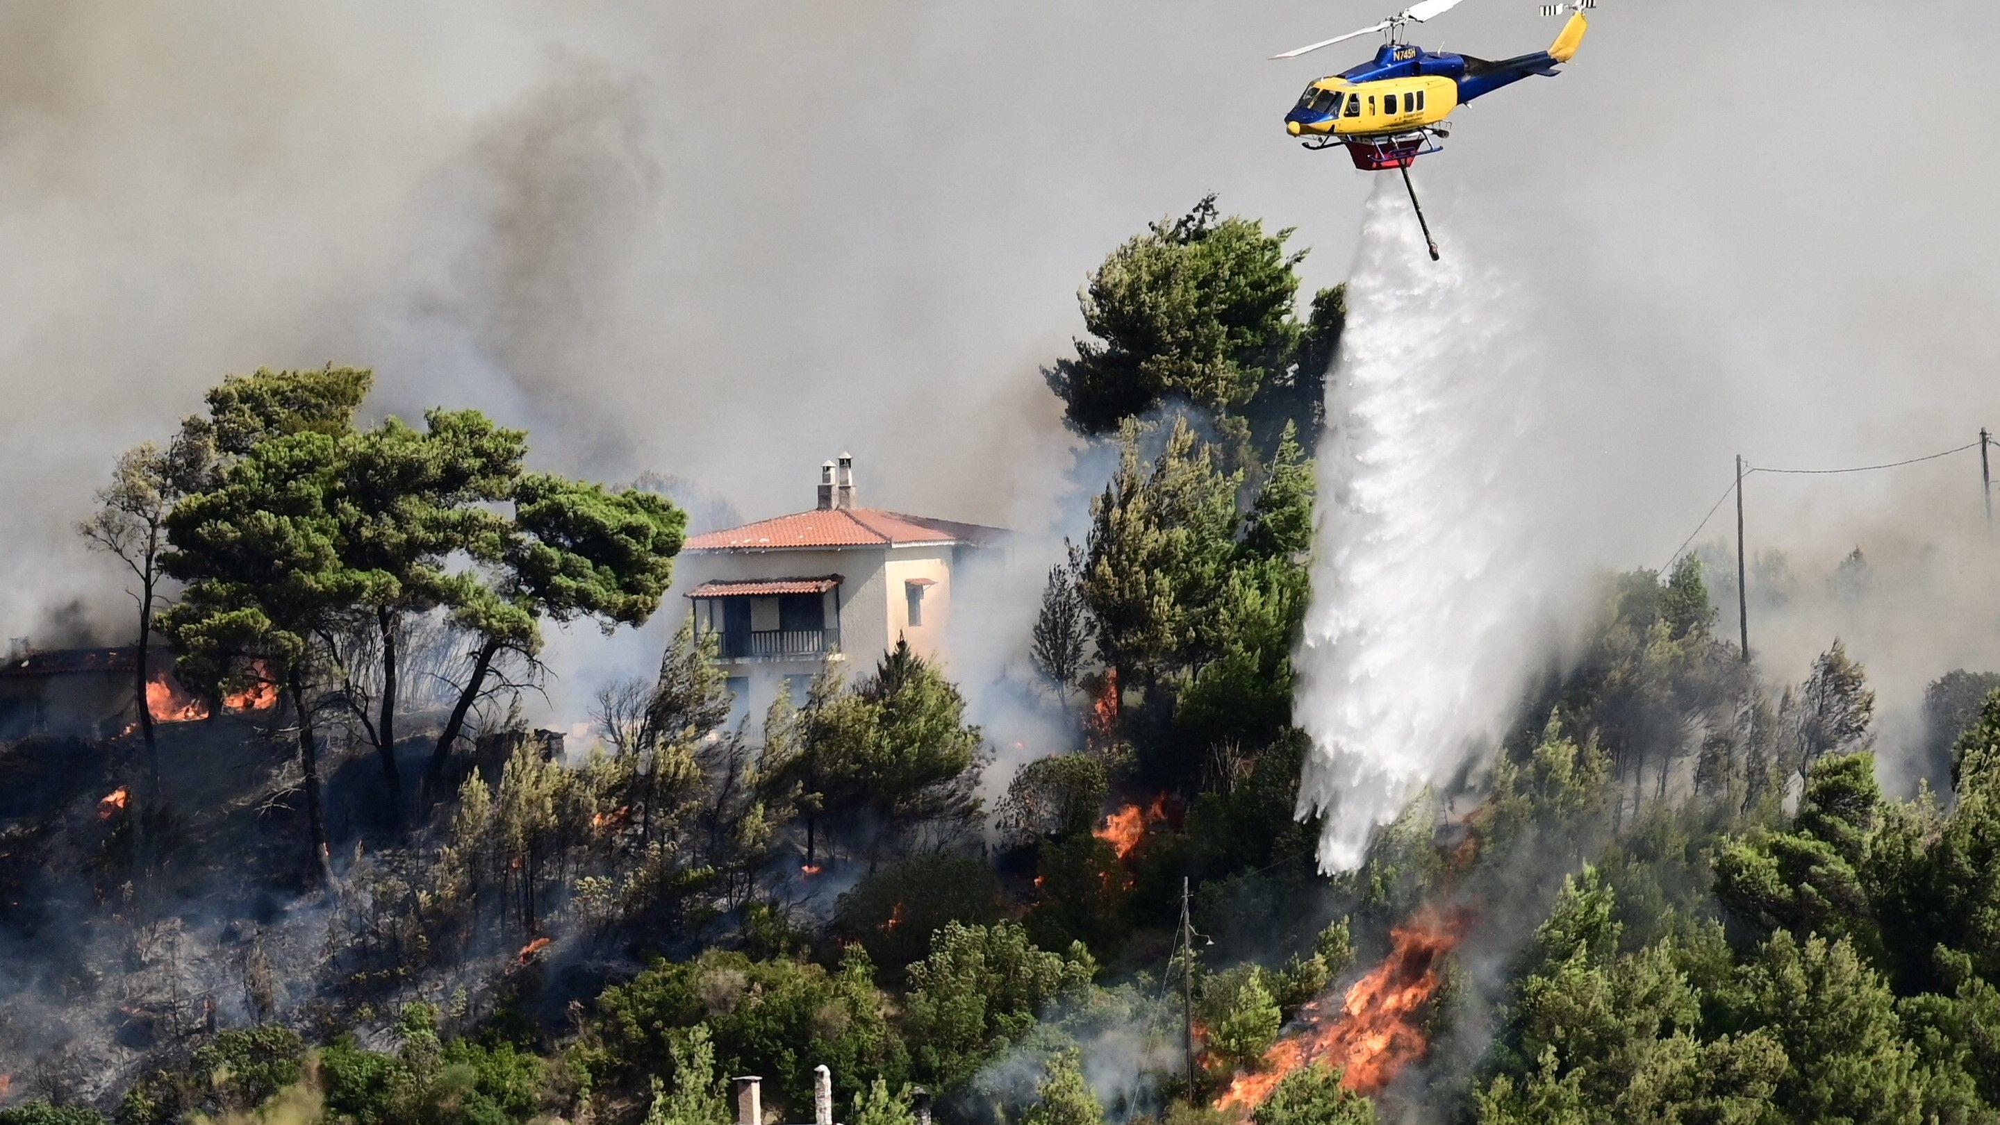
[[[1284,1075],[1326,1063],[1342,1071],[1340,1085],[1380,1093],[1402,1069],[1424,1057],[1422,1017],[1442,981],[1444,955],[1464,931],[1464,913],[1422,909],[1390,931],[1390,955],[1348,987],[1338,1009],[1320,997],[1300,1009],[1304,1027],[1264,1053],[1254,1073],[1236,1075],[1216,1109],[1248,1115],[1270,1099]]]

